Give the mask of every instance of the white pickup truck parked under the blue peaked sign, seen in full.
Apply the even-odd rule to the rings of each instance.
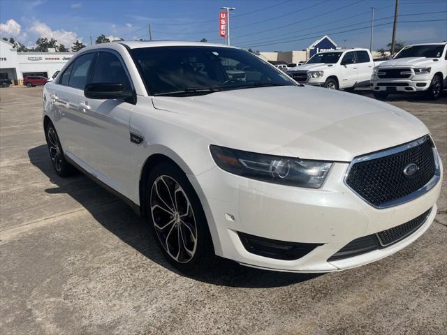
[[[368,86],[372,70],[379,63],[374,63],[369,50],[356,47],[314,54],[306,64],[290,68],[287,74],[296,82],[349,90]]]

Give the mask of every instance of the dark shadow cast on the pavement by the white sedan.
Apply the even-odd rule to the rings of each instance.
[[[61,178],[52,168],[47,146],[40,145],[28,151],[29,161],[54,184],[45,193],[67,194],[82,205],[104,228],[115,234],[153,262],[177,271],[163,258],[147,222],[138,217],[122,200],[105,191],[94,181],[79,173],[73,177]],[[215,267],[207,273],[189,276],[197,281],[242,288],[273,288],[308,281],[321,274],[291,274],[243,267],[231,260],[217,258]]]

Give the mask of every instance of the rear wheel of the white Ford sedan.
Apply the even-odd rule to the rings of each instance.
[[[77,172],[75,167],[68,163],[64,156],[64,151],[59,141],[56,129],[53,124],[48,124],[45,128],[45,138],[47,140],[48,153],[54,170],[60,177],[70,177]]]

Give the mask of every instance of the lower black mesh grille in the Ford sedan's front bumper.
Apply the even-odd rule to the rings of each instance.
[[[328,262],[362,255],[363,253],[369,253],[370,251],[395,244],[401,239],[413,234],[413,232],[416,232],[416,230],[427,221],[430,211],[432,211],[431,208],[423,214],[420,214],[420,216],[413,218],[413,220],[403,223],[402,225],[397,225],[396,227],[382,230],[376,234],[370,234],[354,239],[337,251],[337,253],[330,256]]]

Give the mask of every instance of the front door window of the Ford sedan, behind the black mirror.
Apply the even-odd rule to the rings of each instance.
[[[119,82],[130,89],[129,78],[119,58],[110,52],[100,52],[91,82]]]

